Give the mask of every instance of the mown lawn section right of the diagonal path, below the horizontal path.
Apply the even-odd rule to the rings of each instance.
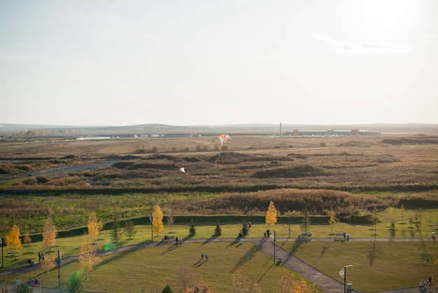
[[[434,242],[285,242],[285,250],[312,266],[344,282],[339,271],[347,269],[347,282],[359,292],[381,292],[416,287],[435,275],[432,264],[438,259]]]

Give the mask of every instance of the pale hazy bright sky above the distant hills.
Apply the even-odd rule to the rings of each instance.
[[[0,123],[438,123],[438,1],[0,0]]]

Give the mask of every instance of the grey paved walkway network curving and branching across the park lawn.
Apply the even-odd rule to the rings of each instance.
[[[276,238],[278,241],[299,241],[297,238]],[[302,241],[330,241],[332,238],[311,238],[309,240],[302,240]],[[221,242],[235,242],[236,239],[234,238],[215,238],[215,239],[189,239],[184,240],[185,243],[200,243],[200,242],[206,242],[206,241],[221,241]],[[266,254],[269,254],[271,257],[274,257],[274,250],[273,250],[273,241],[271,238],[244,238],[243,241],[253,243],[253,245],[257,246],[265,252]],[[394,242],[404,242],[404,241],[435,241],[433,238],[350,238],[346,241],[394,241]],[[129,245],[129,246],[123,246],[115,248],[109,252],[102,252],[101,256],[106,256],[110,254],[116,254],[120,252],[125,252],[129,250],[137,250],[143,247],[150,247],[150,246],[157,246],[157,245],[169,245],[169,243],[139,243],[136,245]],[[302,261],[301,259],[298,259],[293,254],[290,254],[288,251],[284,250],[283,248],[276,245],[275,247],[275,255],[276,257],[282,258],[283,266],[286,266],[287,268],[290,268],[291,271],[294,271],[295,273],[298,273],[299,275],[302,275],[306,280],[309,280],[309,282],[312,282],[316,287],[322,289],[324,292],[327,293],[344,293],[344,284],[339,282],[338,280],[335,280],[334,278],[330,277],[329,275],[326,275],[322,271],[318,271],[318,269],[314,268],[313,266],[306,264],[306,262]],[[65,257],[62,259],[63,264],[68,264],[73,261],[78,261],[78,256],[74,257]],[[40,268],[39,264],[35,264],[34,266],[25,266],[20,268],[10,268],[8,270],[0,271],[0,277],[5,275],[12,275],[15,273],[24,273],[27,271],[34,270],[35,268]],[[0,282],[1,286],[1,282]],[[16,285],[14,283],[10,283],[8,292],[17,292]],[[66,292],[64,289],[55,289],[55,288],[44,288],[43,292],[48,293],[55,293],[55,292]],[[347,292],[354,293],[354,290],[348,290]],[[419,287],[411,287],[411,288],[405,288],[405,289],[397,289],[392,291],[386,291],[386,293],[418,293],[421,292]]]

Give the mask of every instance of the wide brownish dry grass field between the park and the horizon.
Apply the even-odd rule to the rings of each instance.
[[[374,207],[438,207],[436,135],[232,135],[219,159],[220,141],[206,135],[0,146],[3,232],[29,215],[74,214],[55,219],[69,229],[90,210],[141,217],[156,204],[174,214],[263,214],[272,200],[281,214],[306,208],[344,220]]]

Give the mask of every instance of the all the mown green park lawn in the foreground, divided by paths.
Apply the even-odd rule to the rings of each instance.
[[[433,210],[423,211],[423,214],[436,217]],[[379,216],[383,219],[384,214]],[[430,219],[425,217],[425,219]],[[177,218],[178,219],[178,218]],[[397,219],[400,222],[400,220]],[[432,220],[433,223],[434,220]],[[195,222],[196,225],[196,222]],[[241,229],[241,224],[220,224],[222,229],[221,238],[235,238]],[[204,224],[196,226],[197,235],[194,238],[209,239],[213,236],[216,224]],[[346,231],[352,238],[366,238],[374,235],[374,226],[370,225],[348,225],[344,223],[334,224],[334,233]],[[372,292],[383,289],[395,289],[400,287],[415,287],[421,279],[426,278],[432,272],[432,261],[438,259],[437,243],[395,243],[395,242],[367,242],[367,243],[334,243],[316,242],[297,243],[290,240],[285,243],[281,239],[288,238],[289,225],[276,224],[269,227],[266,224],[253,224],[248,234],[250,238],[261,237],[269,228],[276,231],[278,245],[291,251],[297,257],[304,259],[316,268],[331,275],[337,280],[343,281],[339,276],[339,271],[346,264],[352,264],[353,268],[348,271],[348,282],[353,283],[353,287],[362,292]],[[295,238],[301,233],[300,226],[295,224],[290,226],[290,236]],[[327,238],[332,234],[331,226],[327,224],[311,226],[311,232],[316,238]],[[430,238],[430,231],[434,226],[427,222],[423,224],[423,229],[418,231],[416,228],[409,228],[409,224],[396,226],[395,238],[409,236],[418,238]],[[142,242],[150,242],[152,233],[150,225],[136,226],[136,236],[132,240],[124,238],[119,245],[132,245]],[[154,233],[154,242],[160,241],[164,234],[171,236],[189,238],[188,225],[165,226],[160,235]],[[404,231],[404,232],[403,232]],[[377,225],[377,238],[390,238],[391,232],[388,220]],[[62,257],[78,255],[80,244],[83,237],[76,236],[71,238],[57,238],[57,243],[52,250],[62,252]],[[104,250],[106,245],[111,244],[109,231],[101,232],[100,239],[97,241],[97,249]],[[178,275],[181,268],[188,268],[196,280],[202,279],[206,284],[215,289],[215,292],[227,292],[226,288],[232,282],[232,278],[237,272],[248,275],[248,279],[257,280],[264,292],[276,292],[277,281],[285,269],[282,266],[271,266],[271,257],[257,250],[253,245],[244,242],[239,243],[183,243],[177,249],[170,249],[171,244],[153,248],[145,248],[136,252],[117,254],[105,257],[98,266],[97,271],[92,271],[89,280],[85,281],[87,290],[105,292],[123,292],[126,286],[134,286],[133,292],[160,291],[167,285],[178,286]],[[15,267],[29,257],[37,261],[38,251],[43,250],[41,243],[31,243],[19,252],[17,261],[10,254],[11,250],[4,247],[5,267]],[[200,254],[208,252],[210,255],[209,263],[198,262]],[[62,287],[73,271],[82,271],[78,264],[66,264],[62,267]],[[43,270],[20,275],[22,280],[42,278],[43,284],[49,287],[56,287],[57,269],[45,275]],[[10,275],[5,280],[13,281],[16,275]],[[171,281],[169,281],[171,280]],[[392,280],[388,282],[388,280]],[[125,291],[126,292],[126,291]]]

